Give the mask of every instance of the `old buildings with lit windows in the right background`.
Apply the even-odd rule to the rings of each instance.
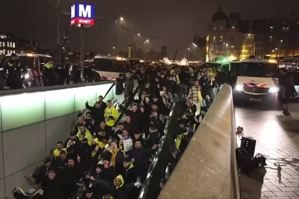
[[[221,6],[208,27],[209,60],[271,58],[299,55],[299,17],[241,19],[240,13],[227,16]]]

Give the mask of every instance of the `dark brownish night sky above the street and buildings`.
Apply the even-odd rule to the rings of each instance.
[[[45,48],[54,48],[57,0],[52,1],[0,0],[0,31],[35,40]],[[95,15],[106,18],[96,19],[93,27],[85,28],[85,51],[113,53],[115,10],[119,10],[118,15],[124,17],[130,30],[118,28],[117,51],[127,51],[127,46],[134,42],[135,30],[142,35],[137,38],[137,48],[143,48],[143,41],[149,39],[147,51],[159,52],[160,46],[166,45],[169,57],[178,50],[177,59],[187,53],[195,33],[206,36],[212,14],[219,5],[227,15],[241,12],[242,18],[289,17],[299,6],[299,0],[60,0],[62,10],[70,12],[73,2],[93,3]],[[72,50],[79,52],[79,28],[69,24],[70,15],[61,14],[60,36],[67,28]]]

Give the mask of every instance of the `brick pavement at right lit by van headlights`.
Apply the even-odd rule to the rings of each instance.
[[[299,104],[290,104],[292,116],[256,104],[235,107],[236,126],[244,131],[237,136],[257,140],[255,154],[268,156],[265,168],[241,173],[242,199],[299,199]],[[281,165],[281,171],[278,169]]]

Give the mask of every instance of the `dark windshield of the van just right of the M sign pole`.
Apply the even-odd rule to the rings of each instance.
[[[112,59],[94,59],[97,71],[106,72],[124,72],[124,62],[122,60],[112,60]]]

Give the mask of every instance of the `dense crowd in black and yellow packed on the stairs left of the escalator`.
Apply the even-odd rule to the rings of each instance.
[[[86,101],[88,111],[78,114],[67,140],[56,143],[38,174],[25,176],[36,186],[28,192],[15,188],[13,196],[67,199],[82,187],[81,199],[137,199],[169,111],[182,91],[177,69],[135,66],[119,74],[117,106],[111,100],[104,102],[103,96],[94,105]],[[134,81],[139,84],[136,96]],[[119,120],[122,113],[124,121]]]

